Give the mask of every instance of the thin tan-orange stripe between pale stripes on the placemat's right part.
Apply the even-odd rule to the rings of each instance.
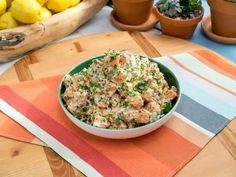
[[[185,67],[184,65],[182,65],[180,62],[178,62],[177,60],[175,60],[174,57],[172,57],[172,56],[168,56],[168,57],[169,57],[173,62],[175,62],[177,65],[179,65],[180,67],[182,67],[183,69],[185,69],[186,71],[188,71],[188,72],[190,72],[190,73],[192,73],[192,74],[198,76],[199,78],[201,78],[201,79],[203,79],[203,80],[205,80],[205,81],[211,83],[212,85],[215,85],[216,87],[219,87],[219,88],[221,88],[222,90],[225,90],[226,92],[228,92],[228,93],[230,93],[230,94],[236,96],[236,93],[235,93],[235,92],[232,92],[232,91],[230,91],[230,90],[228,90],[228,89],[222,87],[221,85],[219,85],[219,84],[217,84],[217,83],[215,83],[215,82],[212,82],[212,81],[208,80],[207,78],[202,77],[202,76],[199,75],[198,73],[196,73],[196,72],[194,72],[194,71],[188,69],[187,67]]]

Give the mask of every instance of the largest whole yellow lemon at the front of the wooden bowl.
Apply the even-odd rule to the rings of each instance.
[[[10,11],[16,20],[28,24],[41,20],[41,8],[36,0],[14,0]]]

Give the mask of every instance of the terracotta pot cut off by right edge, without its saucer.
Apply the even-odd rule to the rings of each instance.
[[[208,0],[211,8],[213,33],[224,37],[236,37],[236,3],[224,0]]]

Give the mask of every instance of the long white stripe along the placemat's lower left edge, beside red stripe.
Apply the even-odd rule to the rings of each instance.
[[[47,132],[43,131],[40,127],[38,127],[35,123],[30,121],[23,114],[19,113],[17,110],[12,108],[8,103],[0,98],[0,110],[8,115],[10,118],[18,122],[20,125],[25,127],[28,131],[30,131],[33,135],[40,138],[42,141],[47,142],[48,146],[50,146],[56,153],[62,156],[66,161],[72,164],[77,169],[81,170],[85,175],[91,177],[101,177],[102,175],[95,170],[92,166],[82,160],[79,156],[73,153],[70,149],[65,147],[59,141],[57,141],[54,137],[52,137]]]

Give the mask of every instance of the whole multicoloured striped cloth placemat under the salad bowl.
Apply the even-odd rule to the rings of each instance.
[[[55,76],[0,86],[0,135],[46,143],[87,176],[173,176],[236,116],[236,67],[205,50],[157,60],[178,76],[182,98],[152,133],[111,140],[80,130],[60,108]]]

